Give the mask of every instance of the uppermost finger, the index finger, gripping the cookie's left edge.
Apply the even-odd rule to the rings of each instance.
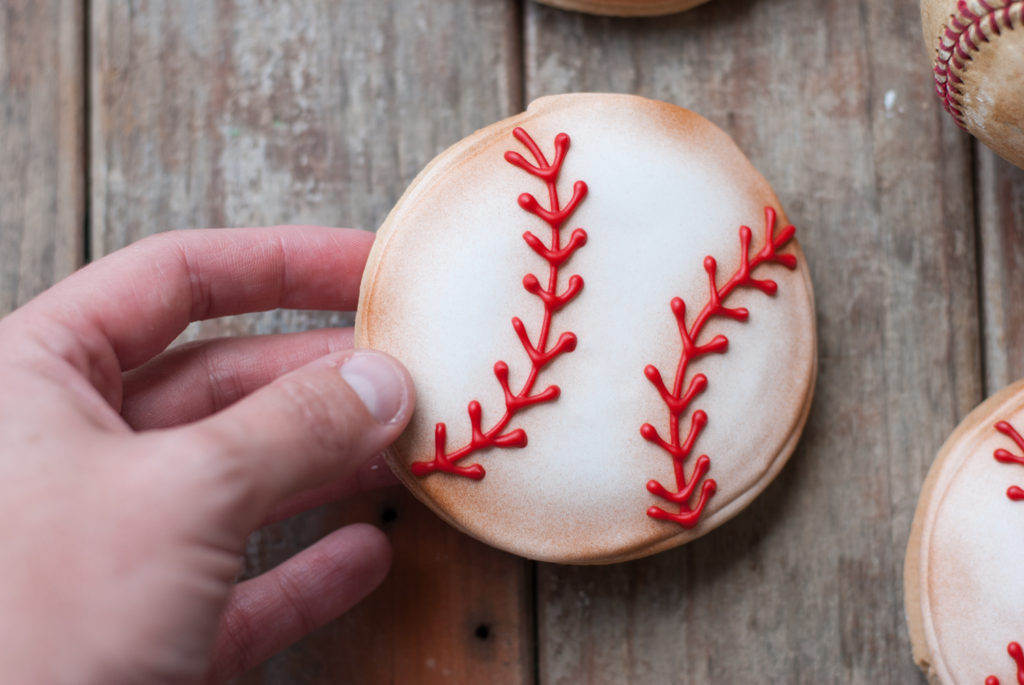
[[[77,334],[87,358],[113,352],[122,370],[133,369],[194,320],[278,307],[354,309],[373,240],[322,226],[158,233],[79,270],[26,309]]]

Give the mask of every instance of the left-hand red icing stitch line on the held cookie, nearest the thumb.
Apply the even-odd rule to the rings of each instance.
[[[530,394],[537,377],[541,370],[551,363],[555,357],[564,352],[571,352],[577,346],[577,337],[572,332],[566,332],[558,337],[553,345],[548,346],[548,338],[551,333],[552,315],[568,304],[583,289],[583,279],[579,275],[571,275],[568,279],[565,290],[558,292],[559,267],[572,256],[572,254],[587,243],[587,231],[577,228],[569,236],[565,245],[561,244],[561,227],[575,211],[577,207],[587,196],[587,184],[577,181],[572,185],[572,197],[563,207],[558,198],[558,174],[561,172],[562,162],[565,161],[565,154],[569,148],[569,136],[559,133],[555,136],[555,157],[551,164],[548,164],[544,153],[538,147],[534,138],[521,128],[512,131],[516,140],[525,145],[526,149],[534,156],[531,164],[522,155],[514,152],[505,153],[505,160],[523,171],[537,176],[544,181],[548,188],[548,199],[550,206],[545,208],[537,201],[537,198],[523,192],[519,196],[519,206],[524,210],[542,219],[551,228],[551,244],[545,245],[540,238],[526,231],[522,239],[534,252],[548,262],[548,284],[543,286],[541,281],[532,273],[527,273],[522,280],[522,286],[532,295],[536,295],[544,302],[544,319],[541,323],[541,332],[535,345],[526,327],[522,320],[515,316],[512,318],[512,328],[515,330],[519,342],[522,343],[526,355],[529,356],[530,370],[526,381],[518,392],[512,392],[509,387],[509,367],[504,361],[495,363],[495,377],[501,384],[505,392],[505,414],[498,422],[486,431],[481,428],[482,409],[480,402],[475,399],[469,403],[469,423],[472,428],[472,438],[468,444],[459,447],[455,452],[446,452],[447,429],[443,423],[438,423],[434,428],[434,459],[429,462],[413,462],[412,471],[416,476],[426,476],[435,471],[443,471],[458,476],[465,476],[474,480],[479,480],[485,474],[483,467],[479,464],[470,466],[459,466],[457,462],[462,461],[475,452],[486,449],[487,447],[524,447],[526,446],[526,432],[521,428],[503,432],[512,417],[517,412],[534,404],[551,401],[558,397],[561,390],[557,385],[550,385],[546,389]]]

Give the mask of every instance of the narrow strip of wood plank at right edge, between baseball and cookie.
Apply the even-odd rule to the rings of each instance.
[[[1024,377],[1024,170],[977,145],[985,390]]]

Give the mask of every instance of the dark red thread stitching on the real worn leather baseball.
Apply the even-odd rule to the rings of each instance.
[[[1013,31],[1022,23],[1024,1],[1005,3],[1005,0],[976,0],[982,12],[973,11],[967,0],[957,0],[956,13],[949,15],[949,22],[942,27],[935,57],[935,92],[956,125],[966,129],[964,111],[959,98],[963,96],[964,80],[961,78],[972,53],[981,49],[982,43],[989,42],[984,28],[987,25],[992,35],[1002,35],[1002,29]],[[1005,4],[1004,4],[1005,3]]]

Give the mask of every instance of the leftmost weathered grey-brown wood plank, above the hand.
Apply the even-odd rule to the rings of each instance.
[[[84,257],[82,4],[0,10],[0,314]]]

